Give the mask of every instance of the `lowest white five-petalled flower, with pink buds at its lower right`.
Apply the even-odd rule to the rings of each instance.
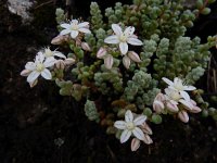
[[[139,115],[133,120],[132,112],[128,110],[125,113],[125,121],[116,121],[114,126],[118,129],[124,129],[120,136],[120,142],[126,142],[131,135],[139,140],[143,140],[144,134],[138,126],[142,125],[145,120],[146,117],[144,115]]]

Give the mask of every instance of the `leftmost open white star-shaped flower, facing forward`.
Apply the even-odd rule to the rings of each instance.
[[[29,72],[27,74],[27,82],[33,84],[39,75],[41,75],[46,79],[51,79],[52,75],[48,67],[51,67],[55,64],[54,58],[47,58],[42,53],[38,53],[36,55],[35,62],[27,62],[24,70],[25,72]],[[24,72],[23,71],[23,72]],[[22,72],[22,73],[23,73]],[[21,73],[21,74],[22,74]]]

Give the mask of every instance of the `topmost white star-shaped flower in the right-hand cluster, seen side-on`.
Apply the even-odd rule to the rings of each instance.
[[[168,88],[171,88],[171,89],[175,89],[177,91],[180,92],[181,97],[187,100],[187,101],[190,101],[190,97],[189,97],[189,93],[186,91],[186,90],[194,90],[196,89],[195,87],[193,86],[186,86],[182,82],[182,79],[178,78],[178,77],[175,77],[174,82],[169,80],[168,78],[166,77],[163,77],[162,78],[166,84],[168,84]]]

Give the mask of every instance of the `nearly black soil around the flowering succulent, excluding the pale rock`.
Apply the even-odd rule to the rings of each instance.
[[[82,105],[73,98],[59,96],[53,83],[39,82],[30,89],[20,72],[58,34],[54,10],[63,2],[34,11],[36,18],[29,26],[21,25],[20,17],[10,14],[3,3],[0,2],[0,163],[217,163],[217,124],[210,117],[194,115],[189,124],[164,118],[162,125],[151,125],[154,143],[131,152],[129,142],[120,145],[105,134],[105,128],[88,121]],[[89,10],[88,2],[80,3],[77,9]],[[43,16],[37,15],[40,10]],[[213,22],[217,21],[217,16],[213,17],[200,20],[197,27],[191,29],[192,35],[214,35],[208,33],[213,33]],[[203,25],[207,22],[212,26],[210,30],[206,26],[205,32]]]

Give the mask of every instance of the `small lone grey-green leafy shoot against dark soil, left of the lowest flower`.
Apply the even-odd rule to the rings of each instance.
[[[85,114],[90,121],[100,121],[100,114],[95,108],[94,101],[87,100],[85,103]]]

